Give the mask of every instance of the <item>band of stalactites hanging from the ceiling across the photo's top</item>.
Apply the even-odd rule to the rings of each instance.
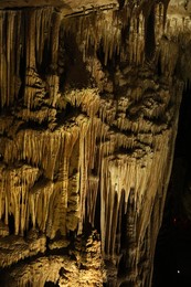
[[[163,18],[166,18],[166,6],[155,6],[156,34],[161,34]],[[149,4],[148,4],[149,7]],[[54,106],[59,92],[57,56],[59,56],[59,33],[62,28],[64,33],[73,31],[76,42],[81,42],[79,50],[83,51],[84,60],[88,56],[89,50],[94,52],[102,45],[104,63],[107,64],[114,55],[130,61],[130,63],[142,63],[145,59],[145,35],[149,25],[148,15],[145,9],[135,12],[132,7],[126,6],[121,10],[112,9],[99,13],[97,10],[89,14],[76,18],[64,17],[62,9],[54,8],[8,10],[0,11],[0,82],[1,82],[1,107],[9,106],[24,93],[24,104],[30,108],[31,103],[38,105],[33,97],[40,93],[41,97],[45,89],[42,83],[32,83],[36,70],[46,73],[50,100]],[[150,9],[149,9],[150,10]],[[155,22],[152,23],[152,26]],[[110,29],[113,26],[113,29]],[[149,31],[148,31],[149,33]],[[128,54],[128,56],[126,55]],[[25,65],[25,71],[21,71]],[[46,66],[46,71],[43,68]],[[23,78],[26,85],[23,91]],[[33,88],[29,88],[33,86]],[[42,89],[41,89],[42,87]],[[28,91],[29,88],[29,91]]]

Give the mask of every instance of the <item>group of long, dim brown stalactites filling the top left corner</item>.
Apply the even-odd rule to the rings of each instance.
[[[35,71],[38,65],[42,64],[43,53],[45,45],[47,49],[50,46],[50,28],[51,28],[51,15],[52,8],[39,9],[28,11],[28,21],[24,20],[24,13],[21,11],[0,11],[1,13],[1,71],[0,83],[1,83],[1,107],[4,105],[11,105],[15,98],[18,98],[18,93],[20,89],[20,61],[21,56],[25,56],[26,62],[26,84],[30,86],[31,71]],[[55,18],[57,19],[57,18]],[[56,22],[56,21],[55,21]],[[17,26],[17,30],[15,30]],[[39,26],[41,29],[39,30]],[[55,23],[52,42],[53,57],[52,61],[56,62],[54,59],[56,56],[55,50],[57,49],[60,22]],[[6,31],[7,29],[7,31]],[[28,34],[24,34],[28,31]],[[35,36],[36,32],[36,36]],[[54,41],[55,39],[56,41]],[[14,52],[15,51],[15,52]],[[24,55],[25,51],[25,55]],[[49,50],[47,50],[49,51]],[[52,63],[55,66],[55,63]],[[24,68],[24,67],[22,67]],[[15,72],[15,74],[14,74]],[[35,91],[30,91],[26,88],[25,97],[28,106],[30,106],[30,99],[35,95]]]

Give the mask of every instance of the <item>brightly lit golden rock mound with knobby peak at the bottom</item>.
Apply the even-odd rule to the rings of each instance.
[[[100,242],[94,232],[86,240],[78,237],[68,255],[39,255],[11,268],[2,280],[6,286],[103,286],[103,266]]]

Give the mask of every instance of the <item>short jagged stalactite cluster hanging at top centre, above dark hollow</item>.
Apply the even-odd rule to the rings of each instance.
[[[93,45],[95,52],[99,45],[103,45],[105,65],[115,53],[119,54],[120,30],[118,28],[118,19],[114,17],[113,11],[108,10],[106,13],[108,14],[107,22],[96,11],[84,18],[66,20],[66,31],[74,32],[76,31],[76,26],[79,26],[76,40],[79,43],[79,47],[83,49],[84,61],[87,59],[88,50]],[[110,22],[113,22],[113,31],[109,29]]]

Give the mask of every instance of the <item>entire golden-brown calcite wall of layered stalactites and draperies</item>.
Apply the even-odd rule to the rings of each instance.
[[[168,3],[1,1],[2,286],[151,286],[191,75]]]

